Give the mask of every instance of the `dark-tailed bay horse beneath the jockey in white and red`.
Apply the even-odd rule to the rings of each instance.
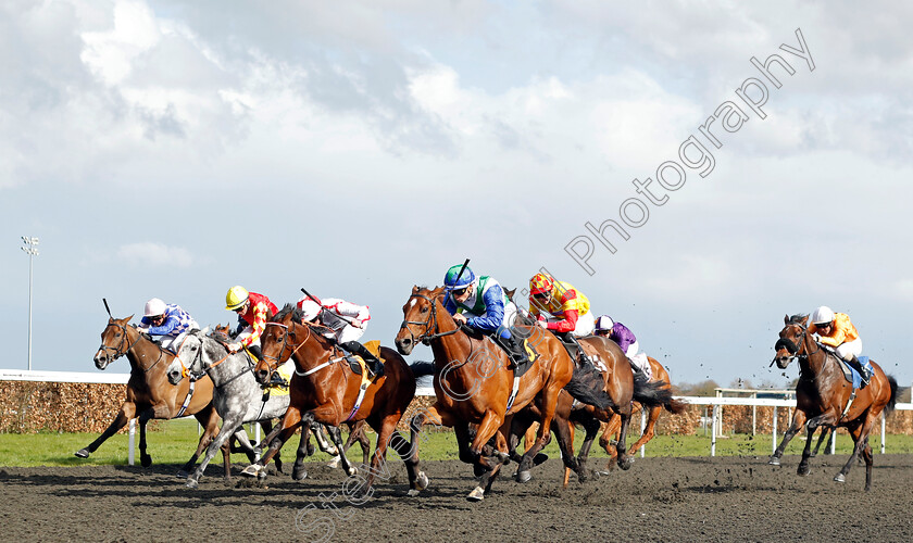
[[[317,421],[327,426],[336,446],[342,450],[339,425],[348,421],[366,420],[377,432],[377,444],[371,462],[367,481],[357,489],[355,494],[366,495],[374,478],[386,472],[387,445],[402,418],[405,408],[415,396],[415,375],[396,351],[380,348],[384,361],[384,376],[372,381],[357,405],[361,376],[349,367],[333,339],[333,330],[320,325],[302,321],[301,311],[290,304],[266,324],[260,343],[263,357],[254,368],[260,382],[266,382],[273,371],[289,357],[295,361],[296,371],[289,392],[291,401],[280,428],[270,442],[270,450],[252,471],[262,469],[299,426]],[[357,470],[345,454],[340,455],[343,470],[350,476]]]

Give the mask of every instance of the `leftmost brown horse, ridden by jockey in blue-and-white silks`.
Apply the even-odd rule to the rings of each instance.
[[[101,332],[101,346],[95,354],[95,364],[98,369],[104,369],[121,356],[127,356],[130,363],[127,397],[108,429],[89,446],[77,451],[76,456],[88,458],[108,438],[136,417],[139,420],[139,462],[142,467],[149,467],[152,465],[152,457],[146,452],[146,424],[153,418],[172,419],[179,413],[193,415],[203,427],[203,433],[200,435],[197,452],[178,472],[178,476],[187,477],[193,470],[200,453],[218,434],[218,415],[212,405],[212,381],[209,377],[198,380],[189,404],[186,409],[183,409],[183,403],[187,400],[190,390],[189,379],[178,386],[168,382],[167,367],[174,354],[128,325],[132,318],[133,315],[121,319],[109,318],[108,326]],[[225,477],[228,477],[230,457],[226,449],[223,449],[223,457]]]

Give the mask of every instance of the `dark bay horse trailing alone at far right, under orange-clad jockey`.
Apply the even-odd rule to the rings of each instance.
[[[870,384],[853,391],[852,384],[843,378],[837,357],[815,342],[809,333],[808,315],[786,316],[786,325],[779,333],[774,358],[777,367],[786,369],[793,358],[799,359],[799,382],[796,384],[796,417],[786,431],[770,463],[779,465],[779,458],[789,440],[805,422],[808,440],[799,463],[799,475],[809,473],[812,434],[818,427],[845,427],[853,438],[855,446],[843,469],[834,478],[846,481],[853,460],[862,454],[865,460],[865,490],[872,488],[872,447],[868,434],[883,412],[890,413],[897,403],[897,381],[886,376],[881,367],[872,363],[875,372]],[[800,415],[799,412],[802,414]]]

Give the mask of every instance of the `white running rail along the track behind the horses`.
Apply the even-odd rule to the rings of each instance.
[[[127,380],[129,379],[129,375],[127,374],[103,374],[103,372],[74,372],[74,371],[28,371],[28,370],[10,370],[10,369],[0,369],[0,384],[3,381],[24,381],[24,382],[35,382],[35,383],[80,383],[80,384],[123,384],[125,386]],[[58,394],[58,396],[63,396],[63,394]],[[91,394],[90,391],[86,390],[85,392],[79,392],[78,394],[71,394],[67,399],[68,402],[77,402],[83,396],[85,396],[86,401],[91,401],[97,394]],[[416,390],[416,396],[423,396],[420,402],[427,403],[428,400],[424,396],[434,396],[434,389],[429,387],[420,388]],[[123,393],[116,396],[117,407],[120,407],[120,403],[124,397]],[[712,408],[711,415],[711,444],[710,444],[710,455],[716,455],[716,440],[720,433],[722,433],[723,428],[723,407],[724,406],[751,406],[752,407],[752,433],[754,432],[755,427],[760,421],[758,419],[758,412],[755,411],[758,407],[773,407],[773,416],[772,416],[772,452],[777,446],[777,431],[778,431],[778,413],[777,409],[780,407],[785,407],[787,409],[793,409],[796,407],[796,400],[793,399],[761,399],[761,397],[711,397],[711,396],[676,396],[678,400],[683,402],[695,405],[695,406],[705,406]],[[105,400],[110,400],[107,399]],[[60,401],[60,397],[58,397]],[[14,409],[10,405],[2,405],[2,415],[3,420],[10,419],[10,412],[15,412],[16,416],[23,415],[23,409]],[[109,409],[103,413],[103,416],[110,420],[111,413],[114,409]],[[413,406],[410,406],[412,409]],[[913,403],[898,403],[897,404],[898,411],[913,411]],[[83,413],[91,412],[92,409],[82,409]],[[407,412],[407,417],[409,416],[410,412]],[[785,413],[786,414],[786,413]],[[407,419],[408,420],[408,419]],[[641,414],[641,430],[646,425],[646,414]],[[107,424],[104,425],[107,427]],[[685,426],[688,426],[687,424]],[[762,425],[765,426],[765,425]],[[673,432],[675,432],[675,426],[673,425]],[[7,426],[3,427],[7,429]],[[70,430],[62,430],[62,431],[70,431]],[[83,430],[85,431],[85,430]],[[687,433],[693,432],[693,426],[687,431]],[[129,428],[129,453],[128,453],[128,463],[130,465],[134,464],[134,451],[135,451],[135,441],[136,441],[136,419],[130,420]],[[255,440],[260,441],[260,427],[254,426],[254,434]],[[885,452],[885,438],[886,438],[886,419],[885,416],[881,416],[881,450],[880,452],[884,454]],[[831,451],[833,451],[833,442],[831,442]],[[641,456],[645,454],[645,450],[641,447],[640,450]]]

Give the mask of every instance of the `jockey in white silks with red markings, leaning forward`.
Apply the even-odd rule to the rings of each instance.
[[[333,330],[336,343],[351,354],[361,356],[375,378],[384,377],[384,365],[358,341],[371,320],[366,305],[357,305],[338,298],[325,298],[321,301],[305,294],[298,301],[298,307],[303,313],[304,320]]]

